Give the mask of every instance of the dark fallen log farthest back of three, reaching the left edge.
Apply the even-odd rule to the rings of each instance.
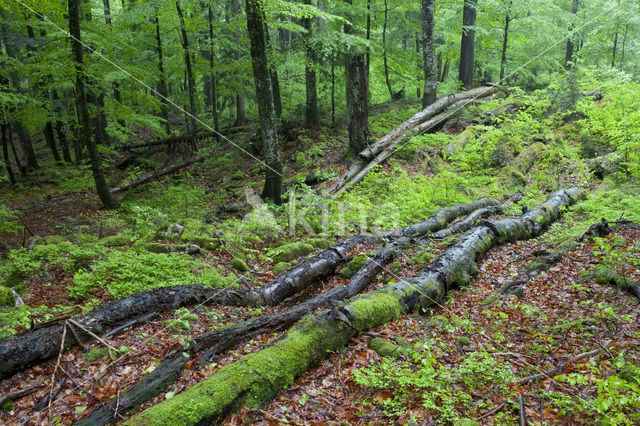
[[[421,233],[435,232],[461,215],[493,204],[497,204],[497,201],[480,200],[458,204],[441,209],[423,222],[396,231],[348,238],[294,266],[256,290],[215,289],[197,284],[165,287],[109,302],[74,320],[92,333],[102,334],[105,329],[116,327],[131,318],[205,301],[208,304],[233,306],[275,306],[308,287],[318,278],[334,271],[338,265],[346,261],[349,250],[357,244],[379,243],[394,235],[418,236]],[[55,324],[0,342],[0,377],[57,355],[62,332],[63,326]],[[89,336],[84,335],[84,338],[89,340]],[[65,348],[75,344],[75,340],[67,337]]]

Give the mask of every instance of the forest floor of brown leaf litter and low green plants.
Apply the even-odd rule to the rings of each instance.
[[[495,104],[491,106],[495,107]],[[415,109],[416,105],[412,104],[381,108],[374,115],[374,134],[384,134]],[[503,160],[509,163],[516,153],[494,149],[483,154],[477,145],[466,146],[448,158],[445,156],[443,164],[434,168],[429,162],[434,153],[455,140],[456,134],[472,125],[473,119],[477,121],[481,113],[481,109],[472,110],[467,116],[449,122],[426,142],[423,140],[422,145],[414,144],[401,150],[399,158],[385,163],[343,198],[347,204],[360,205],[342,212],[346,217],[346,229],[329,229],[322,234],[323,238],[337,241],[357,233],[362,227],[358,216],[362,211],[373,215],[365,219],[369,227],[382,224],[382,228],[389,229],[424,220],[443,205],[483,196],[497,197],[518,188],[524,188],[525,198],[506,212],[506,216],[517,214],[521,206],[536,204],[554,189],[576,183],[590,189],[599,188],[596,195],[589,195],[575,209],[570,209],[541,237],[491,249],[478,259],[480,272],[468,287],[451,292],[445,302],[420,315],[402,316],[370,330],[370,335],[353,338],[344,350],[332,353],[299,377],[293,387],[281,389],[263,409],[242,408],[225,423],[441,424],[468,418],[477,419],[480,424],[513,424],[526,418],[530,424],[587,424],[594,421],[623,424],[633,421],[634,415],[638,421],[640,305],[637,299],[621,289],[597,283],[593,271],[597,265],[606,265],[631,280],[640,281],[640,230],[634,227],[614,229],[610,235],[577,243],[552,262],[540,260],[555,253],[568,240],[575,241],[601,215],[616,220],[625,213],[625,218],[637,221],[640,207],[634,205],[637,195],[633,194],[638,186],[630,188],[627,183],[612,183],[611,180],[603,183],[593,177],[584,182],[584,175],[577,172],[582,169],[576,165],[582,163],[575,160],[572,153],[567,154],[567,151],[580,148],[572,133],[575,130],[571,123],[559,124],[553,120],[547,130],[562,143],[555,144],[554,153],[538,155],[539,161],[525,174],[524,185],[514,185],[509,171],[500,171],[502,166],[497,165]],[[510,125],[516,126],[514,122]],[[480,126],[482,132],[492,131],[488,126]],[[523,139],[527,139],[520,147],[530,144],[531,135],[527,134],[530,129],[518,131],[525,134]],[[243,134],[237,136],[238,140],[248,138]],[[315,192],[329,188],[347,169],[349,162],[344,156],[344,138],[342,131],[318,129],[309,132],[295,126],[282,132],[285,172],[290,176],[285,180],[286,184],[296,187],[300,182],[310,181],[311,173],[315,177],[321,175],[320,183],[298,186],[300,202],[308,199],[318,202]],[[24,274],[23,287],[19,291],[27,307],[0,313],[4,338],[28,332],[38,322],[86,312],[108,300],[135,293],[136,289],[162,285],[162,274],[173,274],[176,266],[191,268],[197,278],[198,274],[204,273],[202,268],[210,265],[221,274],[222,282],[234,277],[240,288],[260,286],[276,277],[273,271],[276,262],[270,259],[270,250],[301,238],[287,236],[282,230],[265,229],[260,223],[256,224],[261,221],[260,217],[251,218],[251,206],[246,204],[245,194],[247,188],[259,193],[261,172],[257,165],[243,160],[229,146],[214,145],[209,150],[203,149],[204,154],[209,155],[203,163],[126,194],[123,208],[117,213],[100,210],[97,200],[91,196],[90,180],[84,175],[58,171],[52,178],[54,166],[33,175],[32,186],[17,192],[3,189],[0,201],[20,212],[16,223],[21,227],[21,233],[2,235],[6,247],[13,250],[3,261],[1,272],[6,278],[11,267],[20,267],[16,266],[19,262],[23,262],[20,265],[24,271],[30,271]],[[558,155],[564,155],[575,164],[558,163],[554,159]],[[496,164],[471,170],[483,156],[490,157],[489,161]],[[500,156],[507,159],[498,158]],[[135,178],[153,161],[166,161],[166,154],[162,152],[141,157],[146,158],[133,170],[114,172],[110,176],[112,184]],[[406,198],[396,192],[402,192]],[[381,210],[382,203],[403,206],[393,212],[396,215],[394,223],[384,223],[384,211],[377,216],[372,213]],[[313,222],[319,213],[313,206],[308,209],[313,212],[309,219]],[[285,211],[274,207],[272,213],[276,225],[280,229],[286,228]],[[329,210],[329,214],[334,214],[334,210]],[[151,262],[149,265],[158,268],[159,275],[134,269],[131,272],[133,281],[127,281],[129,278],[113,271],[122,265],[118,263],[121,260],[113,257],[114,252],[133,252],[135,242],[145,233],[155,232],[159,224],[166,227],[168,223],[197,228],[203,235],[219,239],[222,245],[202,247],[197,257],[200,266],[188,263],[195,262],[188,255],[167,256],[176,262],[182,261],[176,260],[178,257],[184,258],[187,263],[165,264],[153,257],[155,255],[143,251],[129,261]],[[311,225],[320,227],[315,222]],[[43,238],[45,245],[42,247],[58,249],[34,258],[35,249],[20,249],[29,245],[30,240],[33,245],[34,236]],[[102,245],[100,241],[109,236],[123,238],[117,244]],[[160,242],[171,243],[170,240]],[[417,275],[450,242],[420,243],[406,249],[396,259],[397,263],[385,267],[383,274],[366,291],[400,277]],[[59,248],[61,244],[64,249]],[[358,245],[349,257],[371,253],[375,248],[374,245]],[[316,249],[308,255],[319,251]],[[300,263],[304,258],[291,260],[291,264]],[[231,263],[236,259],[242,259],[247,270],[234,269]],[[348,281],[340,275],[341,269],[336,272],[285,304],[295,304]],[[96,285],[91,281],[93,278],[82,275],[87,273],[93,273],[94,278],[102,277],[102,281]],[[184,279],[181,275],[171,277]],[[151,284],[143,288],[132,284],[139,281]],[[508,288],[505,287],[507,284]],[[502,292],[501,289],[506,290]],[[5,404],[0,412],[0,423],[72,423],[153,371],[160,360],[178,350],[189,337],[278,309],[201,305],[161,312],[147,324],[109,338],[112,346],[126,348],[123,351],[126,354],[115,362],[106,356],[97,359],[87,356],[101,347],[97,342],[75,346],[60,359],[57,385],[53,387],[56,389],[62,383],[59,394],[41,411],[34,407],[51,391],[55,359],[0,382],[0,396],[35,386],[33,392]],[[187,325],[183,327],[185,322]],[[242,356],[266,347],[282,334],[256,337],[228,351],[204,369],[198,370],[195,365],[192,368],[189,361],[182,377],[140,407],[138,412],[173,397]],[[400,348],[397,356],[383,358],[371,349],[368,341],[372,334],[396,342]],[[515,383],[517,379],[547,371],[574,356],[594,350],[598,353],[570,362],[556,372],[561,373],[559,376],[526,384]],[[421,381],[410,381],[411,376],[419,376]],[[521,406],[522,414],[519,412]],[[494,408],[497,409],[492,411]],[[121,419],[134,414],[122,414]]]

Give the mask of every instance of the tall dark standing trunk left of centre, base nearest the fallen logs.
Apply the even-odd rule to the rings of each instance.
[[[267,59],[264,10],[261,0],[246,0],[247,30],[251,42],[251,61],[256,85],[256,100],[260,115],[262,154],[266,163],[262,197],[279,204],[282,202],[282,164],[278,150],[273,87]]]

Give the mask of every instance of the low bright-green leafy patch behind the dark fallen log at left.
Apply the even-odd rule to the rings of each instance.
[[[158,287],[205,284],[223,288],[236,282],[233,274],[224,277],[207,264],[175,253],[112,251],[91,271],[76,273],[69,294],[83,298],[104,289],[110,296],[120,299]]]

